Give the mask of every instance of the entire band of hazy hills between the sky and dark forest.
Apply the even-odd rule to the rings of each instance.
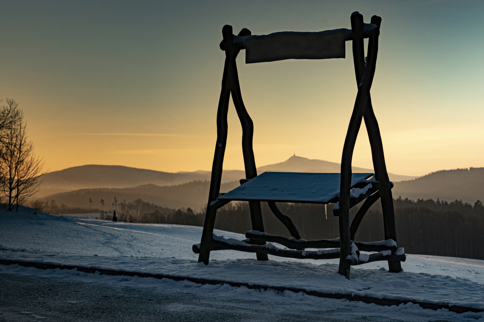
[[[257,168],[264,171],[338,172],[340,164],[291,156],[284,162]],[[353,167],[353,172],[373,172]],[[210,171],[162,172],[122,166],[86,165],[54,171],[43,175],[42,190],[37,197],[56,200],[57,205],[89,208],[89,198],[99,208],[99,200],[106,200],[110,209],[114,196],[126,202],[141,198],[144,201],[168,208],[191,207],[199,209],[207,202]],[[484,200],[484,168],[440,170],[415,178],[389,173],[394,182],[396,198],[453,201],[462,199],[473,204]],[[244,178],[242,170],[224,170],[222,192],[239,185]],[[415,179],[414,179],[415,178]],[[408,180],[411,179],[411,180]]]

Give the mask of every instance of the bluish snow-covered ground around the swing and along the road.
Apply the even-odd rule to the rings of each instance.
[[[211,253],[209,266],[197,264],[192,245],[201,237],[201,227],[168,224],[129,224],[72,216],[33,214],[22,208],[20,213],[0,211],[0,258],[64,265],[92,266],[165,275],[190,276],[215,280],[231,280],[271,286],[287,286],[318,290],[324,293],[361,294],[415,301],[448,303],[484,308],[484,261],[464,258],[411,255],[402,263],[404,272],[392,274],[386,262],[373,262],[353,267],[350,280],[337,274],[338,260],[291,260],[269,256],[267,262],[255,260],[255,254],[217,251]],[[244,236],[215,231],[225,238],[244,239]],[[93,276],[73,270],[39,270],[17,265],[0,266],[0,273],[35,276],[56,276],[87,282],[117,283],[119,277]],[[132,286],[153,288],[181,287],[180,285],[212,292],[211,296],[229,292],[230,296],[262,296],[267,301],[286,301],[288,297],[304,301],[345,306],[361,313],[390,312],[401,321],[427,320],[463,321],[483,320],[482,313],[456,314],[445,309],[433,311],[407,304],[400,307],[381,307],[346,300],[315,298],[284,292],[260,293],[255,290],[236,290],[233,287],[199,286],[189,282],[174,282],[149,278],[130,278]],[[177,284],[178,283],[178,284]],[[184,283],[184,284],[183,284]],[[171,285],[171,286],[170,286]],[[178,286],[177,286],[178,285]],[[217,293],[218,292],[218,293]],[[266,295],[263,295],[266,294]],[[266,297],[264,297],[266,296]],[[279,297],[278,297],[279,296]],[[284,298],[286,300],[284,300]],[[261,299],[262,300],[262,299]],[[287,301],[291,302],[291,301]],[[326,304],[324,304],[326,303]],[[286,305],[290,305],[286,303]],[[405,313],[402,313],[404,312]],[[380,312],[380,313],[378,313]],[[393,314],[393,315],[394,315]]]

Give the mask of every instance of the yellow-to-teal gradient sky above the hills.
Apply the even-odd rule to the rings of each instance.
[[[351,28],[382,17],[372,101],[389,172],[484,166],[484,1],[4,1],[0,96],[25,112],[45,170],[84,164],[210,170],[225,54],[234,33]],[[244,63],[257,166],[333,162],[357,87],[347,58]],[[243,169],[229,109],[226,169]],[[362,126],[353,165],[372,168]]]

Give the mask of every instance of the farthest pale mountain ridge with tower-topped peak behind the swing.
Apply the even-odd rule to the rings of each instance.
[[[264,171],[339,172],[340,167],[339,163],[293,155],[284,162],[263,166],[257,168],[257,171],[258,173]],[[353,172],[373,172],[373,170],[353,167]],[[143,184],[166,186],[194,180],[210,181],[210,176],[211,171],[203,170],[172,173],[124,166],[85,165],[44,174],[41,190],[36,197],[87,188],[126,188]],[[393,173],[389,173],[389,177],[393,182],[415,178]],[[222,173],[222,182],[238,181],[242,178],[245,178],[245,172],[242,170],[224,170]]]

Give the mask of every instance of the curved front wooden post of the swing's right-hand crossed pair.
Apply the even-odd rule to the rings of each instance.
[[[353,40],[363,37],[363,15],[353,13],[351,15],[351,30]],[[340,236],[340,262],[338,273],[349,279],[350,265],[346,256],[350,254],[350,230],[349,230],[349,193],[351,189],[351,160],[353,150],[358,136],[358,131],[363,119],[363,112],[369,98],[378,53],[378,28],[370,31],[368,41],[368,63],[364,67],[363,77],[358,86],[355,105],[349,121],[348,132],[343,146],[341,157],[341,183],[340,183],[340,215],[339,215],[339,236]]]

